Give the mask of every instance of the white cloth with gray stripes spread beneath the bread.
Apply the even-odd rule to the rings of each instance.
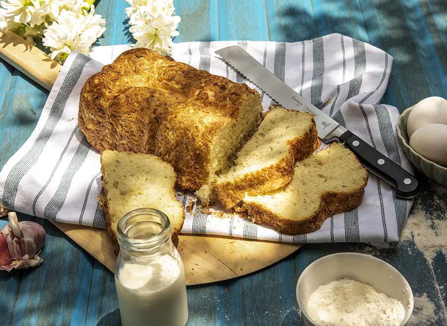
[[[172,57],[236,82],[255,85],[234,71],[214,51],[229,45],[246,49],[279,79],[362,137],[395,163],[411,171],[396,142],[396,108],[378,104],[386,89],[392,57],[370,44],[330,34],[297,43],[187,42],[175,44]],[[91,57],[72,53],[48,96],[36,129],[3,166],[0,205],[65,223],[104,228],[97,204],[101,191],[99,154],[77,127],[80,89],[85,80],[112,62],[127,45],[97,47]],[[96,61],[97,60],[97,61]],[[260,89],[267,109],[273,100]],[[178,194],[188,205],[190,194]],[[299,236],[278,233],[237,215],[186,212],[182,233],[223,235],[280,242],[393,243],[399,239],[412,201],[370,175],[362,205],[326,220],[320,230]],[[222,207],[214,207],[220,211]]]

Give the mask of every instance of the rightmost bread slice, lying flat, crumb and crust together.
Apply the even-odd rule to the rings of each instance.
[[[362,202],[368,172],[342,144],[298,162],[292,181],[260,196],[246,195],[243,208],[249,218],[285,234],[318,230],[324,220],[356,208]]]

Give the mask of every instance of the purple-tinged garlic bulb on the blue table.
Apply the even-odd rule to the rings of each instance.
[[[45,244],[45,229],[35,222],[17,221],[15,212],[8,213],[9,225],[0,230],[0,270],[39,265],[40,249]]]

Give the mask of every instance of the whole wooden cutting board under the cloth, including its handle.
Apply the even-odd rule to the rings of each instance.
[[[40,49],[10,31],[0,32],[0,58],[48,90],[51,90],[62,67]],[[74,224],[52,223],[114,272],[116,255],[106,231]],[[176,246],[185,266],[187,285],[197,285],[257,271],[298,250],[301,244],[179,235]]]

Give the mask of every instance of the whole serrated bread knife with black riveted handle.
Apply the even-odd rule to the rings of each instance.
[[[414,198],[419,193],[418,180],[409,172],[382,155],[368,143],[333,120],[292,87],[279,80],[239,46],[215,51],[224,61],[255,83],[270,97],[286,108],[308,112],[314,116],[318,137],[324,142],[339,141],[351,149],[359,161],[372,173],[396,189],[396,196]]]

